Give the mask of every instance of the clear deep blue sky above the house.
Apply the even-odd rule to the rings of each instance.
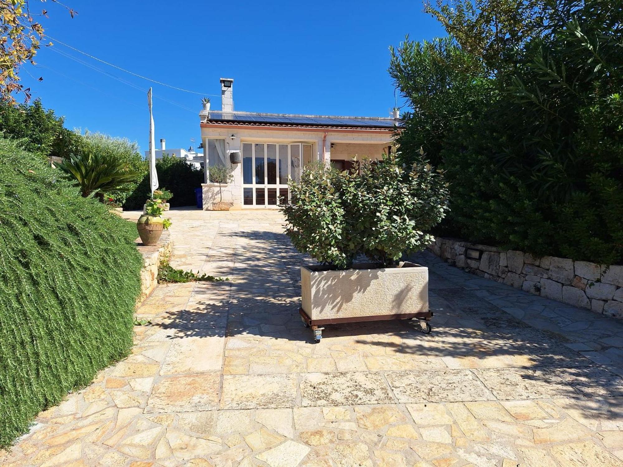
[[[221,108],[219,77],[234,78],[236,110],[320,115],[386,116],[394,105],[388,47],[444,35],[413,1],[92,1],[52,2],[47,34],[132,72],[206,94]],[[54,41],[52,41],[54,42]],[[84,60],[79,64],[50,49]],[[63,45],[43,47],[24,84],[68,128],[125,136],[148,148],[146,92],[154,100],[156,144],[197,146],[201,96],[133,77]],[[181,107],[184,108],[181,108]],[[195,138],[196,143],[190,139]]]

